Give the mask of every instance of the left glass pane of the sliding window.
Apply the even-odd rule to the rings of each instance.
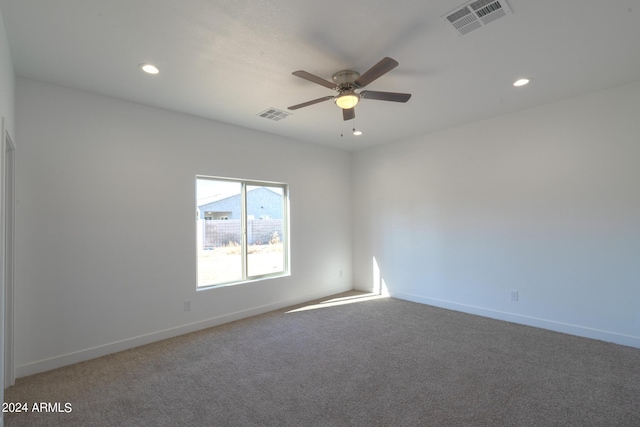
[[[242,184],[198,178],[198,286],[243,279]]]

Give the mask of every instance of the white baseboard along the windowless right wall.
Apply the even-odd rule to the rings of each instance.
[[[497,320],[518,323],[521,325],[533,326],[550,331],[562,332],[569,335],[576,335],[584,338],[592,338],[600,341],[612,342],[615,344],[626,345],[629,347],[640,348],[640,337],[619,334],[616,332],[603,331],[599,329],[588,328],[580,325],[572,325],[569,323],[556,322],[554,320],[541,319],[531,316],[523,316],[515,313],[508,313],[499,310],[492,310],[484,307],[460,304],[452,301],[439,300],[435,298],[427,298],[420,295],[407,294],[402,292],[391,292],[393,298],[403,299],[407,301],[417,302],[421,304],[432,305],[435,307],[446,308],[449,310],[461,311],[463,313],[476,314],[478,316],[489,317]]]

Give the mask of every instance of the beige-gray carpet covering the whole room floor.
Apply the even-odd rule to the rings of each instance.
[[[335,298],[21,378],[6,402],[62,412],[5,425],[640,426],[640,349]]]

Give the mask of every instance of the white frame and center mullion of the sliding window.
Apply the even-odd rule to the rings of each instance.
[[[257,280],[270,279],[274,277],[283,277],[289,276],[290,266],[289,266],[289,185],[282,182],[273,182],[273,181],[256,181],[256,180],[248,180],[248,179],[238,179],[238,178],[223,178],[217,176],[207,176],[207,175],[196,175],[196,187],[198,180],[213,180],[213,181],[225,181],[225,182],[234,182],[241,185],[240,192],[240,200],[241,200],[241,264],[242,264],[242,278],[238,280],[233,280],[229,282],[221,282],[214,283],[208,285],[200,285],[198,284],[198,256],[196,256],[196,290],[207,290],[214,289],[221,286],[230,286],[237,285],[240,283],[254,282]],[[274,273],[266,273],[259,275],[248,275],[248,242],[247,242],[247,187],[249,186],[266,186],[266,187],[277,187],[282,190],[283,195],[283,205],[282,205],[282,236],[280,236],[282,241],[282,250],[283,250],[283,268],[282,271],[274,272]],[[196,192],[197,193],[197,192]],[[197,194],[196,194],[197,199]],[[196,200],[197,205],[197,200]],[[196,206],[196,211],[198,211]],[[227,218],[228,219],[228,218]],[[197,221],[196,221],[197,223]],[[198,229],[196,224],[196,242],[198,240],[197,233],[201,231]],[[197,248],[198,249],[198,248]]]

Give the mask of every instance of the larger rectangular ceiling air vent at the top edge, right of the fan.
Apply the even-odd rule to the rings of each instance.
[[[464,36],[510,13],[506,0],[476,0],[455,8],[442,19],[458,36]]]

